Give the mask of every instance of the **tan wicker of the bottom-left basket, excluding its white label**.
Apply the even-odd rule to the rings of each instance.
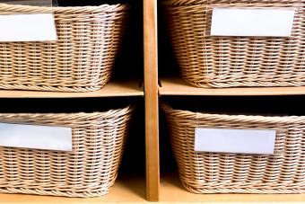
[[[117,178],[132,110],[0,114],[5,122],[73,128],[72,152],[0,147],[0,192],[67,197],[107,194]]]

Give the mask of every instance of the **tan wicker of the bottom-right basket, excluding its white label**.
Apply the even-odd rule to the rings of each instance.
[[[220,115],[162,105],[179,176],[195,193],[304,193],[305,117]],[[276,129],[274,155],[199,153],[195,129]]]

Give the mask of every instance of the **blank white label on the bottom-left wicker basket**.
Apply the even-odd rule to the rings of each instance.
[[[72,129],[0,123],[0,146],[72,151]]]

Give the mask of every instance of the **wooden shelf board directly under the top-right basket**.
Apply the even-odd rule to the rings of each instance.
[[[180,78],[161,79],[160,95],[300,95],[305,94],[301,87],[245,87],[245,88],[197,88]]]

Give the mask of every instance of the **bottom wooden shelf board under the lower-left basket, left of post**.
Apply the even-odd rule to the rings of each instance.
[[[24,194],[0,194],[0,203],[102,203],[102,202],[141,202],[145,201],[144,178],[119,179],[109,194],[97,198],[80,199],[55,196]]]

